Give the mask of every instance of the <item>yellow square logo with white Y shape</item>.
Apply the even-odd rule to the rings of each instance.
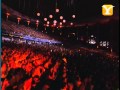
[[[113,5],[103,5],[102,6],[102,15],[103,16],[112,16],[113,15]]]

